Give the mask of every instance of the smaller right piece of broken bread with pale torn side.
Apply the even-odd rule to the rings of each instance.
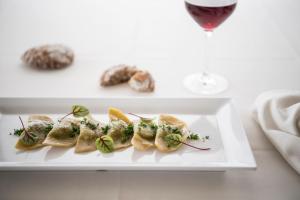
[[[128,82],[129,86],[138,92],[153,92],[155,82],[151,74],[147,71],[138,71]]]

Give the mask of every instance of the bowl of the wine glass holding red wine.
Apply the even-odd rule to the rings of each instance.
[[[231,15],[236,0],[186,0],[185,6],[204,30],[212,31]]]

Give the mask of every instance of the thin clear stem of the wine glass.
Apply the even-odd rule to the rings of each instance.
[[[203,69],[202,76],[203,78],[208,78],[210,61],[211,61],[211,37],[212,31],[205,31],[205,40],[203,44]]]

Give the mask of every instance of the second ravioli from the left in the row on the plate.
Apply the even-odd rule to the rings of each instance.
[[[43,144],[55,147],[72,147],[76,144],[79,133],[80,120],[66,118],[55,124]]]

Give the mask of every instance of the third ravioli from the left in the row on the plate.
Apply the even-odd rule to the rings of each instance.
[[[80,134],[75,146],[76,153],[89,152],[96,150],[95,141],[103,135],[103,124],[91,118],[84,118],[80,125]]]

